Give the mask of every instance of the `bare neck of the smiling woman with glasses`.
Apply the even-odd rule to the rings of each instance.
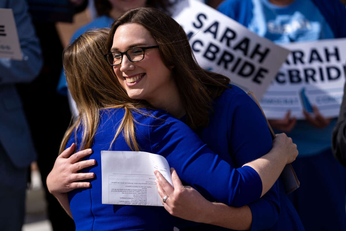
[[[186,114],[182,100],[174,80],[169,86],[160,89],[155,97],[147,100],[154,108],[166,110],[176,118]]]

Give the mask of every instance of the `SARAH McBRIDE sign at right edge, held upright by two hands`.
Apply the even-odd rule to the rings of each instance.
[[[302,110],[316,105],[325,117],[337,117],[345,84],[346,39],[284,44],[291,50],[260,104],[267,118],[287,110],[304,119]]]

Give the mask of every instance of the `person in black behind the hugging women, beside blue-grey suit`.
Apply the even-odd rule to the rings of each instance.
[[[54,231],[75,230],[74,222],[66,215],[54,196],[48,192],[45,184],[47,175],[54,165],[55,155],[47,155],[47,149],[58,152],[60,142],[71,121],[71,114],[66,97],[56,92],[56,85],[62,69],[61,54],[63,46],[58,36],[55,24],[59,21],[71,23],[73,15],[84,10],[85,0],[27,0],[36,35],[40,41],[43,55],[43,67],[37,78],[30,83],[17,85],[22,100],[24,112],[31,130],[37,165],[41,174],[45,197],[47,201],[48,219]],[[53,55],[54,54],[54,55]],[[47,104],[49,99],[49,104]],[[59,113],[56,113],[57,107]],[[51,116],[37,116],[43,111]],[[51,123],[55,121],[55,123]],[[46,126],[51,124],[52,133],[46,135]],[[64,222],[61,222],[64,220]]]

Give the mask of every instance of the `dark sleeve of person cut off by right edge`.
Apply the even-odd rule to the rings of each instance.
[[[340,108],[338,122],[336,123],[331,148],[335,158],[346,166],[346,83],[344,86],[344,97]]]

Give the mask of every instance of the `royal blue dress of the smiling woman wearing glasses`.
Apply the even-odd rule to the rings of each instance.
[[[213,152],[227,162],[234,163],[235,167],[257,159],[271,149],[268,146],[271,137],[262,112],[252,99],[243,97],[243,94],[243,90],[233,86],[217,97],[208,127],[197,131]],[[250,203],[249,207],[253,216],[251,230],[304,230],[280,179],[261,199]],[[193,225],[191,222],[178,221],[182,230],[189,230],[186,227]],[[228,229],[200,224],[193,230]]]

